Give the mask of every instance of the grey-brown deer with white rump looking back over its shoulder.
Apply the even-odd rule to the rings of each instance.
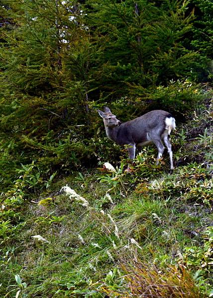
[[[154,143],[158,149],[156,165],[162,158],[166,145],[170,157],[170,169],[174,169],[170,133],[175,130],[175,118],[166,111],[153,110],[138,118],[121,123],[108,107],[104,112],[97,109],[104,120],[106,136],[118,145],[126,145],[129,159],[135,158],[136,147]],[[127,168],[129,171],[129,166]]]

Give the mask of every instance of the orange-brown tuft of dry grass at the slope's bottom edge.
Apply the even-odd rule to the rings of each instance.
[[[133,264],[131,260],[122,261],[127,291],[123,293],[123,288],[116,291],[111,285],[107,285],[104,290],[109,297],[201,297],[190,273],[184,267],[169,266],[167,270],[162,271],[139,260]]]

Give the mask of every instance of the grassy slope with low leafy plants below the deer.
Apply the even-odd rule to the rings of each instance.
[[[124,160],[40,192],[23,169],[1,195],[0,297],[213,296],[212,124],[210,104],[178,127],[172,173],[152,147],[131,174]]]

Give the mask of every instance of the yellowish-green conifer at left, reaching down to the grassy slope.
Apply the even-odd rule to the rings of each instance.
[[[88,114],[89,39],[81,8],[71,1],[2,0],[1,10],[2,175],[42,156],[49,168],[66,164],[63,158],[72,163],[75,152],[84,155],[81,125]],[[70,138],[64,127],[72,127]]]

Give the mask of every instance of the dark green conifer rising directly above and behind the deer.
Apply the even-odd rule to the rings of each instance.
[[[126,83],[147,87],[191,75],[200,56],[183,43],[194,20],[189,1],[86,3],[106,92],[121,95]]]

